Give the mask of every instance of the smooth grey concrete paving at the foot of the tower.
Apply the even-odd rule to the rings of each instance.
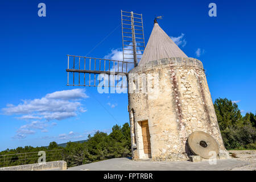
[[[192,163],[189,161],[181,162],[152,162],[152,161],[134,161],[127,158],[115,158],[102,160],[100,162],[71,167],[72,171],[219,171],[231,170],[236,167],[248,165],[236,159],[217,160],[217,164],[210,165],[208,161]]]

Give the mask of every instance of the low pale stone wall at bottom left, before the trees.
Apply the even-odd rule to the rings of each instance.
[[[64,160],[46,162],[46,163],[36,163],[36,164],[26,164],[21,166],[10,166],[1,167],[0,171],[43,171],[47,169],[67,170],[67,163]]]

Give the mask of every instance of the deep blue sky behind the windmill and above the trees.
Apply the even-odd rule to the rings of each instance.
[[[38,16],[40,2],[46,17]],[[217,17],[208,16],[211,2]],[[143,14],[146,41],[154,16],[163,15],[163,30],[186,55],[203,62],[213,101],[227,97],[243,114],[255,113],[255,6],[251,0],[1,1],[0,150],[82,140],[129,122],[127,94],[66,86],[65,72],[67,54],[102,58],[120,50],[121,9]],[[70,89],[76,90],[58,92]],[[35,107],[44,114],[35,117]],[[15,114],[20,108],[26,114]]]

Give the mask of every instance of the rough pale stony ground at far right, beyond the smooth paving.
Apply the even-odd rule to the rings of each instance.
[[[232,171],[255,171],[256,170],[256,150],[230,150],[230,153],[237,160],[249,163],[246,166],[235,167]]]

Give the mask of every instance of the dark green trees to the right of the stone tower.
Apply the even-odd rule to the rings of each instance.
[[[242,117],[237,104],[227,98],[217,98],[214,102],[218,125],[227,149],[255,148],[255,115],[246,113]]]

